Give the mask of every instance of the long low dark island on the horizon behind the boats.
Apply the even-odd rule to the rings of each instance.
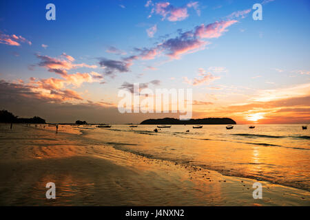
[[[201,118],[178,120],[176,118],[147,119],[140,124],[237,124],[231,118]]]

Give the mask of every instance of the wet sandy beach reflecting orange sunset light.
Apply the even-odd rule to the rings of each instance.
[[[56,184],[46,199],[45,184]],[[307,190],[149,159],[74,133],[0,126],[1,206],[309,206]]]

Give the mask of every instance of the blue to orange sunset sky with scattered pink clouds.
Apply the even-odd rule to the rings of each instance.
[[[118,91],[136,83],[192,89],[192,118],[309,124],[309,12],[307,0],[3,0],[0,109],[48,122],[178,117],[120,113]]]

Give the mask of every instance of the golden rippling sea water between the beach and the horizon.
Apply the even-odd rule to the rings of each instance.
[[[68,126],[69,127],[69,126]],[[156,125],[113,124],[110,129],[72,126],[81,135],[148,158],[189,164],[223,175],[265,180],[310,189],[310,133],[300,124],[287,125],[172,125],[154,132]],[[64,129],[64,127],[63,127]],[[68,129],[65,129],[68,130]],[[189,132],[186,132],[189,130]]]

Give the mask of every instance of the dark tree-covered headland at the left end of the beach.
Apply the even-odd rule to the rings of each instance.
[[[33,118],[19,118],[15,116],[10,111],[1,110],[0,111],[0,122],[1,123],[26,123],[26,124],[45,124],[43,118],[34,116]]]

